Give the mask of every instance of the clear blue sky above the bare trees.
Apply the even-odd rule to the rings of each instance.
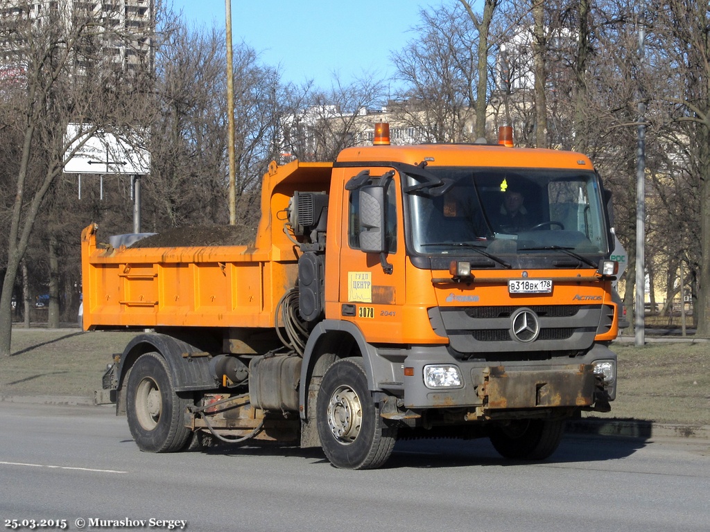
[[[197,26],[224,27],[224,0],[168,0]],[[313,78],[328,88],[332,72],[348,83],[371,72],[393,74],[392,50],[414,35],[420,9],[457,0],[231,0],[232,40],[280,65],[285,82]]]

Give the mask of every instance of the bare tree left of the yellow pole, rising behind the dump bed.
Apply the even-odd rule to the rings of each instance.
[[[175,25],[156,54],[150,231],[226,221],[224,35]]]

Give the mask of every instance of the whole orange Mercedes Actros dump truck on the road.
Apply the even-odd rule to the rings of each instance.
[[[365,469],[398,438],[487,437],[538,460],[610,408],[617,265],[586,156],[383,137],[272,163],[261,194],[249,245],[82,233],[84,328],[146,330],[104,376],[141,450],[275,440]]]

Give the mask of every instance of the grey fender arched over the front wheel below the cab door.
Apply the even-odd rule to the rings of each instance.
[[[317,346],[320,340],[328,333],[347,333],[354,338],[362,353],[363,365],[367,375],[367,387],[372,392],[382,392],[385,388],[382,384],[387,383],[386,389],[404,389],[403,376],[400,362],[392,362],[383,358],[374,345],[365,340],[365,337],[358,326],[350,321],[324,320],[313,328],[308,337],[303,351],[303,364],[301,366],[300,387],[298,390],[299,412],[301,419],[306,420],[306,400],[308,394],[308,375],[311,367],[311,358],[317,353]],[[404,360],[404,356],[402,358]]]

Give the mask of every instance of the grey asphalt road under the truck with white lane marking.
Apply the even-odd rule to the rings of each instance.
[[[405,442],[386,468],[352,472],[297,448],[141,453],[106,407],[0,402],[0,427],[6,529],[13,519],[68,530],[77,519],[84,530],[710,529],[708,440],[567,437],[534,465],[484,440]]]

